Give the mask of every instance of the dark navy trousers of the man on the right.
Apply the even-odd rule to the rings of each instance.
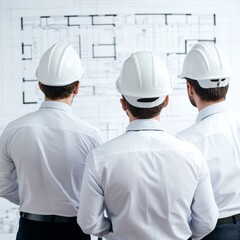
[[[240,221],[219,224],[204,240],[240,240]]]

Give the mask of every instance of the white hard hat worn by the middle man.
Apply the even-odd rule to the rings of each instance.
[[[158,106],[172,89],[165,63],[149,51],[131,54],[122,65],[116,88],[131,105],[139,108]],[[144,98],[157,99],[138,101]]]

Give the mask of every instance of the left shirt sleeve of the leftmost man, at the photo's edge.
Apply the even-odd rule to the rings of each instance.
[[[15,164],[7,151],[4,132],[0,137],[0,197],[19,204],[18,181]]]

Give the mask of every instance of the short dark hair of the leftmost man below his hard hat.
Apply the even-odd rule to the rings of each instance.
[[[57,100],[69,97],[73,93],[74,87],[77,84],[78,81],[66,86],[47,86],[42,84],[41,90],[47,98]]]

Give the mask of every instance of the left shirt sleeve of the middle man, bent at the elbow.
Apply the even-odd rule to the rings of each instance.
[[[111,230],[111,222],[104,216],[104,211],[104,193],[97,181],[94,157],[91,152],[86,160],[77,216],[83,232],[106,236]]]

